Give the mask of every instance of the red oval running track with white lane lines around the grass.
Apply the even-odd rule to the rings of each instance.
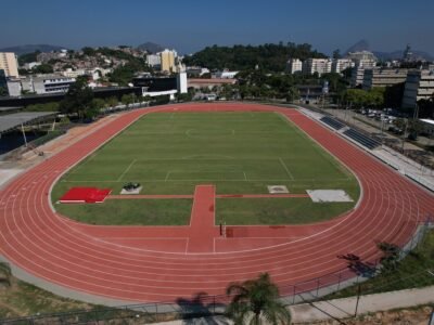
[[[53,211],[49,193],[66,169],[144,114],[187,110],[279,112],[357,176],[362,198],[355,210],[328,222],[231,226],[228,238],[221,238],[217,227],[202,233],[196,222],[178,227],[94,226]],[[205,192],[195,195],[210,208]],[[11,182],[0,192],[0,250],[36,277],[120,301],[174,301],[199,291],[219,295],[229,282],[265,271],[290,294],[288,285],[344,270],[340,255],[355,253],[368,262],[379,257],[378,240],[404,245],[433,208],[430,193],[295,109],[255,104],[161,106],[122,115]],[[323,278],[321,284],[333,281],[336,277]]]

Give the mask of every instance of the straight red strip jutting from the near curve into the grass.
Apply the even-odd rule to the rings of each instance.
[[[214,252],[214,237],[219,235],[214,221],[215,197],[216,188],[214,185],[196,186],[187,252]]]

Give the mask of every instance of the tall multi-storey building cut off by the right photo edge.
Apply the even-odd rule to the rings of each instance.
[[[409,70],[404,89],[403,107],[413,108],[418,101],[434,96],[434,69]]]

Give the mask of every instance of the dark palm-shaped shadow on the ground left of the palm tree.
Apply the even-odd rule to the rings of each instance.
[[[181,309],[183,324],[229,324],[221,312],[225,304],[216,302],[214,297],[208,296],[206,292],[197,292],[191,299],[178,298],[176,302]]]

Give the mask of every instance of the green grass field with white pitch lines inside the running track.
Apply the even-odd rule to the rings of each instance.
[[[110,187],[127,182],[141,194],[193,194],[215,184],[218,194],[267,194],[267,185],[291,193],[342,188],[357,202],[354,176],[277,113],[153,113],[124,130],[69,170],[52,192]],[[76,220],[95,224],[188,224],[192,200],[107,200],[101,205],[55,205]],[[218,199],[216,222],[291,224],[333,218],[354,204],[316,204],[304,198]],[[156,216],[162,216],[157,218]]]

